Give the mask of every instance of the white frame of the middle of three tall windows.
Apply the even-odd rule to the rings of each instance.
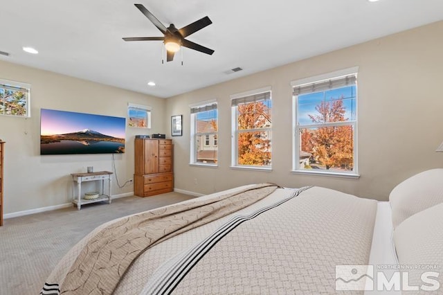
[[[257,170],[257,171],[272,171],[272,139],[271,139],[271,164],[269,166],[255,166],[255,165],[242,165],[238,163],[238,137],[242,132],[270,132],[272,134],[272,121],[271,126],[269,127],[260,127],[253,129],[238,129],[238,105],[233,105],[233,100],[237,100],[240,98],[247,98],[248,96],[260,95],[262,93],[269,92],[269,100],[272,102],[272,89],[271,87],[263,87],[261,89],[255,89],[251,91],[246,91],[242,93],[233,94],[230,96],[231,100],[231,166],[232,169],[244,169],[244,170]],[[257,100],[260,101],[260,100]],[[251,103],[251,102],[248,102]],[[272,109],[270,109],[270,113],[272,114]],[[272,115],[271,115],[272,118]],[[271,136],[272,138],[272,136]]]

